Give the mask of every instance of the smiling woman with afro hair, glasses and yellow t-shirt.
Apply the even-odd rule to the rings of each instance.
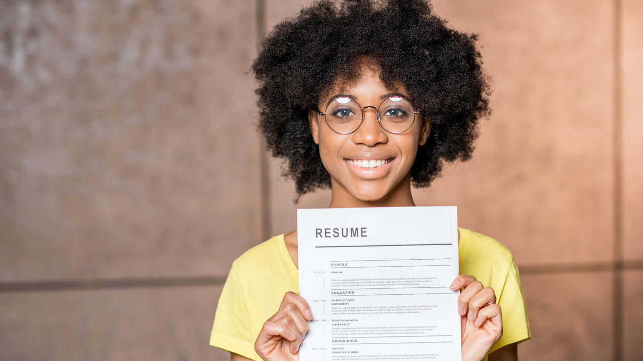
[[[415,206],[444,161],[471,157],[487,84],[475,37],[424,1],[320,1],[278,24],[253,64],[259,126],[297,195],[330,207]],[[463,360],[517,360],[529,321],[511,252],[458,230]],[[232,360],[298,360],[309,306],[298,295],[297,232],[235,260],[210,343]]]

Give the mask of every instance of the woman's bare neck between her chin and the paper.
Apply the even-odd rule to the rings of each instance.
[[[376,200],[363,200],[355,197],[350,192],[331,180],[331,204],[329,208],[358,208],[358,207],[414,207],[413,196],[411,195],[411,175],[399,182],[394,189],[384,197]]]

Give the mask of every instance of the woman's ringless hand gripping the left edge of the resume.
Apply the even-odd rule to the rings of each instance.
[[[311,308],[302,296],[286,292],[279,310],[270,317],[255,341],[255,351],[266,361],[299,360],[299,346],[312,320]]]

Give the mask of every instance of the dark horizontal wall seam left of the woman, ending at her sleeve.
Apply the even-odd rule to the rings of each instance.
[[[66,279],[52,281],[0,282],[0,292],[105,290],[111,288],[156,288],[222,285],[226,277],[157,277],[115,279]]]

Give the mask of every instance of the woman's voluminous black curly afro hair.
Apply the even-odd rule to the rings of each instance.
[[[337,81],[356,80],[365,57],[379,66],[386,87],[403,84],[431,122],[412,166],[413,186],[429,186],[444,161],[470,159],[478,119],[489,114],[489,85],[475,40],[449,29],[421,0],[321,0],[276,25],[252,66],[259,82],[258,128],[273,157],[284,160],[282,175],[294,179],[296,200],[331,186],[309,110]]]

